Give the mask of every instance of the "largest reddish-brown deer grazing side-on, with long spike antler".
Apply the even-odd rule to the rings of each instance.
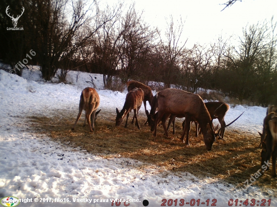
[[[205,104],[199,95],[180,89],[167,88],[157,93],[157,100],[159,111],[155,119],[155,129],[153,136],[157,135],[157,125],[161,120],[165,135],[168,137],[165,121],[170,116],[170,114],[174,114],[177,117],[185,117],[185,127],[181,135],[182,142],[184,141],[185,133],[189,132],[190,130],[191,121],[196,120],[203,134],[206,150],[212,150],[212,146],[216,140],[216,136],[220,137],[220,131],[223,128],[221,128],[218,133],[215,133],[213,127],[213,119],[211,118],[209,111],[205,107]],[[238,118],[236,118],[233,122],[226,125],[225,127],[230,126]],[[185,144],[189,144],[188,133],[186,135]]]

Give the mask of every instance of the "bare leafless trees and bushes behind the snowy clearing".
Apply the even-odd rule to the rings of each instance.
[[[25,12],[13,27],[6,15]],[[45,80],[58,69],[60,81],[68,70],[103,74],[108,87],[118,77],[122,83],[163,82],[189,92],[214,89],[255,105],[277,104],[276,22],[246,25],[241,36],[207,45],[186,47],[180,39],[184,23],[172,17],[165,34],[143,19],[135,5],[120,2],[100,9],[96,1],[22,0],[0,3],[0,59],[15,68],[32,49],[28,64],[39,65]],[[125,8],[125,9],[124,9]]]

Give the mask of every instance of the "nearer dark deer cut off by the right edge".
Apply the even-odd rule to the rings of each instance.
[[[262,141],[261,166],[269,163],[270,157],[272,162],[271,176],[276,177],[276,158],[277,158],[277,113],[271,112],[264,119],[266,130],[265,139]],[[260,134],[260,133],[259,133]],[[261,134],[260,134],[261,135]],[[268,164],[266,164],[268,166]],[[263,172],[264,172],[263,170]]]

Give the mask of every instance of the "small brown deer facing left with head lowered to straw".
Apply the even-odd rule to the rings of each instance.
[[[115,126],[120,126],[124,118],[127,116],[126,124],[125,124],[125,128],[127,128],[129,112],[133,110],[133,113],[134,113],[133,120],[135,118],[135,126],[137,126],[137,128],[140,130],[141,128],[137,121],[137,115],[138,115],[138,111],[140,111],[141,109],[143,100],[144,100],[144,91],[141,88],[135,87],[134,89],[130,90],[126,95],[125,103],[122,110],[119,112],[118,109],[116,108]],[[133,124],[133,120],[131,124]]]

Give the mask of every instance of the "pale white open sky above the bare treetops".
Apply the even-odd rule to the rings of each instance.
[[[174,21],[184,23],[181,40],[187,38],[187,46],[215,42],[219,35],[226,39],[231,35],[241,35],[247,24],[268,21],[274,16],[277,21],[276,0],[242,0],[222,11],[227,0],[125,0],[126,5],[135,3],[138,12],[144,11],[145,22],[158,27],[164,33],[172,15]],[[114,0],[101,0],[102,4],[112,5]]]

